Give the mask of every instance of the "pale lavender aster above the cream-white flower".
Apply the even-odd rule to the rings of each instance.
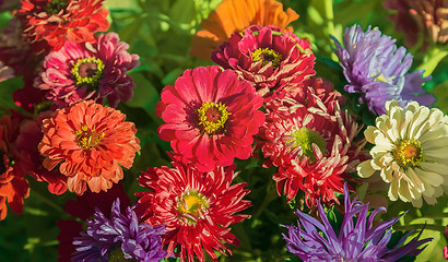
[[[345,91],[361,93],[359,104],[367,103],[374,114],[386,112],[387,100],[396,99],[401,106],[410,100],[431,106],[435,97],[425,94],[422,84],[431,80],[423,78],[423,70],[409,73],[412,55],[404,47],[397,48],[396,39],[382,35],[378,28],[369,26],[363,32],[361,25],[345,28],[343,44],[334,40],[333,50],[343,68]]]

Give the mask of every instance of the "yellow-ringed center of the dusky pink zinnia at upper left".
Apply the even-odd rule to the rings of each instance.
[[[79,59],[71,69],[78,85],[95,86],[103,75],[104,63],[95,57]]]

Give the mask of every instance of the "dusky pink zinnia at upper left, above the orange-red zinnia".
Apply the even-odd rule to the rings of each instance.
[[[107,98],[111,107],[128,102],[135,86],[127,71],[138,67],[139,56],[116,33],[99,35],[94,43],[66,41],[62,49],[44,60],[35,86],[47,91],[47,99],[60,106]]]

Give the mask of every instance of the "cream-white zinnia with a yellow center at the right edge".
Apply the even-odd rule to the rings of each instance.
[[[420,207],[422,196],[435,204],[437,196],[448,193],[448,117],[439,109],[411,102],[403,110],[397,100],[389,100],[386,114],[364,135],[375,144],[373,159],[361,163],[357,172],[367,178],[379,171],[390,183],[390,200]]]

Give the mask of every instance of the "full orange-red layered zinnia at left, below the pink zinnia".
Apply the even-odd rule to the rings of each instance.
[[[120,166],[130,168],[140,150],[137,129],[125,119],[120,111],[92,100],[57,110],[43,121],[38,148],[46,156],[44,167],[51,170],[60,164],[68,189],[76,194],[86,186],[93,192],[107,191],[122,179]]]

